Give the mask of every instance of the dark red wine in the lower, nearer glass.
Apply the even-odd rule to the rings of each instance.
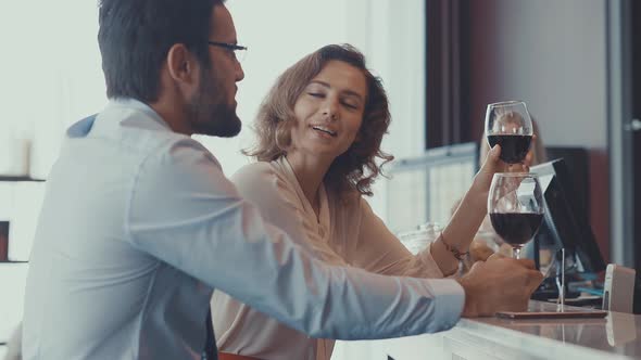
[[[490,220],[492,220],[492,227],[503,237],[503,241],[512,246],[518,246],[527,243],[535,236],[543,220],[543,214],[492,213],[490,214]]]

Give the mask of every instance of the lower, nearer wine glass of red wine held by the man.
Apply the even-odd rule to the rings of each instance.
[[[494,173],[488,213],[494,231],[512,246],[513,257],[518,259],[520,248],[535,236],[543,220],[539,177],[530,172]]]

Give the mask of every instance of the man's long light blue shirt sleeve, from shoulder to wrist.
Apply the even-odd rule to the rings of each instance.
[[[265,223],[191,139],[140,165],[124,216],[135,247],[314,337],[436,332],[463,309],[455,281],[384,277],[311,257]]]

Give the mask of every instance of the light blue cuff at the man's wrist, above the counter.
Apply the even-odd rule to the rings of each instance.
[[[432,288],[435,296],[435,324],[439,329],[436,331],[445,331],[454,327],[465,306],[465,291],[463,286],[454,280],[430,279],[429,286]]]

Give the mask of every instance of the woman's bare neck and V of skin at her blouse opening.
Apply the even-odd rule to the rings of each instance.
[[[305,156],[304,154],[292,152],[287,154],[287,160],[291,165],[305,197],[312,204],[316,216],[318,216],[318,189],[334,159],[323,158],[320,156]]]

